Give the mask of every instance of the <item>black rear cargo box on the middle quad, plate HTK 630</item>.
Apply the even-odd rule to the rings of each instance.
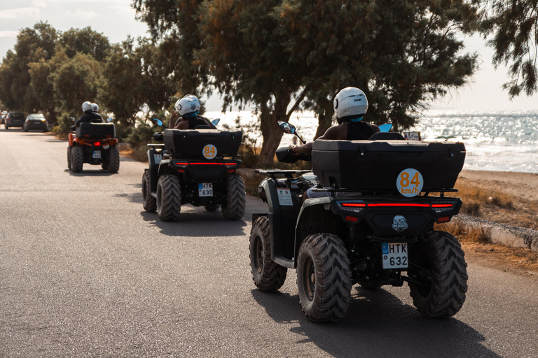
[[[207,158],[204,155],[206,146],[214,146],[212,155],[222,157],[223,155],[236,155],[241,144],[242,133],[240,131],[216,131],[214,129],[165,129],[165,147],[172,155],[181,157]]]

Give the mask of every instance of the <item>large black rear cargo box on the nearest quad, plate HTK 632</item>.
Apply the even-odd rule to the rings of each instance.
[[[422,191],[450,189],[462,170],[463,143],[315,141],[312,169],[324,187],[394,190],[401,171],[422,174]]]

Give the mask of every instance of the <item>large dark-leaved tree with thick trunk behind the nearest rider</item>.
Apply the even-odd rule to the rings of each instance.
[[[216,87],[225,108],[254,103],[263,134],[260,164],[272,162],[280,143],[278,120],[287,122],[294,110],[310,108],[324,130],[333,96],[343,87],[366,92],[374,122],[391,120],[405,128],[427,101],[464,85],[476,70],[476,55],[460,55],[463,45],[455,39],[476,18],[462,0],[135,4],[154,34],[172,34],[169,41],[189,51],[179,63],[191,78]],[[180,14],[185,6],[190,16]],[[191,32],[184,31],[185,22]]]

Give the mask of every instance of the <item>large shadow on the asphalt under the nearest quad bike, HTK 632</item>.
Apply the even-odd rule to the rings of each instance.
[[[353,287],[352,293],[342,320],[315,323],[303,315],[298,295],[252,290],[275,322],[293,324],[289,331],[302,337],[297,344],[312,342],[331,357],[500,357],[481,344],[485,338],[478,331],[455,318],[422,317],[384,289]]]

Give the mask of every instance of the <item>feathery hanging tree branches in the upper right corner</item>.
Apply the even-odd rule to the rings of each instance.
[[[521,91],[527,96],[538,91],[538,1],[474,0],[481,6],[478,30],[495,50],[497,68],[509,66],[510,80],[503,88],[511,99]]]

